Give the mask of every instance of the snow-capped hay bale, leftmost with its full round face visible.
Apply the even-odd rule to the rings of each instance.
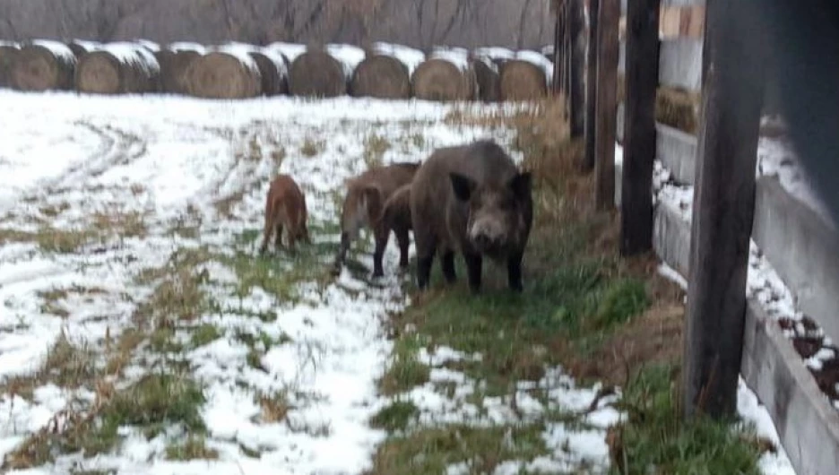
[[[12,85],[21,91],[73,89],[76,58],[64,43],[37,39],[14,55]]]

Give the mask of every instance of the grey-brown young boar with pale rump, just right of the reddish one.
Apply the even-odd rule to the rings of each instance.
[[[385,202],[401,186],[411,183],[420,168],[419,162],[394,163],[371,168],[347,180],[347,194],[341,211],[341,246],[335,259],[335,272],[340,272],[350,244],[359,238],[362,228],[373,229],[376,250],[373,253],[373,277],[385,275],[382,256],[390,234],[379,219]]]

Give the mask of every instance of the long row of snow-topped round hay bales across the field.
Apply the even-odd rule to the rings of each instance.
[[[186,94],[247,99],[289,94],[438,101],[538,100],[549,95],[553,64],[537,51],[436,47],[425,52],[375,43],[363,49],[329,44],[158,45],[145,39],[98,43],[0,42],[0,87],[24,91]]]

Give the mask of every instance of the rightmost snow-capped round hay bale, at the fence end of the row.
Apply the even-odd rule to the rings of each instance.
[[[501,66],[501,98],[536,100],[548,95],[553,79],[553,63],[541,53],[518,51]]]

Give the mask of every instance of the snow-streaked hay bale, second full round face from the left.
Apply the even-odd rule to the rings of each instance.
[[[76,91],[90,94],[154,92],[160,85],[160,65],[140,45],[108,43],[79,58],[75,83]]]

